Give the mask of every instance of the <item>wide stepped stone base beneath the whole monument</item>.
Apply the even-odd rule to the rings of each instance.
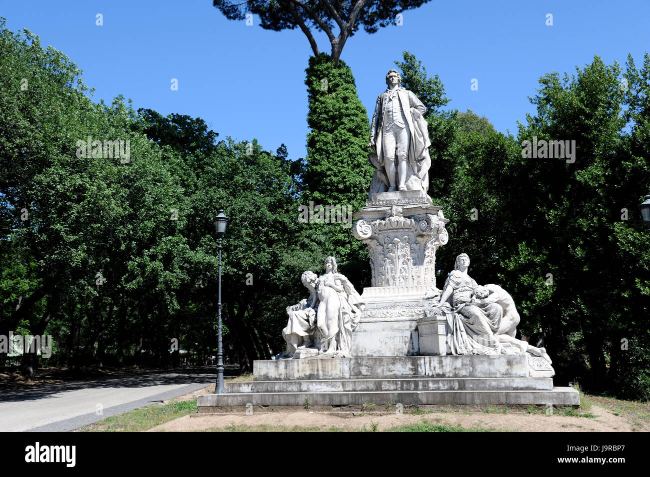
[[[227,383],[224,394],[199,396],[198,411],[307,401],[311,406],[579,406],[578,391],[554,387],[552,369],[540,367],[526,354],[255,361],[252,381]]]

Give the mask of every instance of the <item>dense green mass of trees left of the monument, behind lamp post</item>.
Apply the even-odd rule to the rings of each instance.
[[[286,148],[217,142],[199,118],[136,113],[122,98],[94,104],[62,53],[4,24],[0,39],[0,334],[47,332],[49,363],[70,366],[166,363],[174,339],[205,362],[216,347],[213,219],[224,208],[229,356],[281,350],[285,302],[314,266],[298,254],[300,184]],[[129,157],[88,154],[77,145],[88,138],[128,141]],[[28,375],[35,358],[23,355]]]

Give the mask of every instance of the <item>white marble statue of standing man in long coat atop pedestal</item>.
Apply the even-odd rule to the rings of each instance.
[[[386,75],[387,90],[379,95],[370,126],[370,163],[376,171],[370,193],[429,188],[431,145],[426,108],[409,90],[401,88],[400,74]]]

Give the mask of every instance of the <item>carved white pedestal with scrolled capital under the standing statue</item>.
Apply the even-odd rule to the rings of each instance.
[[[447,243],[442,210],[422,191],[373,193],[355,219],[354,236],[370,253],[372,286],[352,333],[353,356],[422,354],[417,321],[435,295],[435,251]]]

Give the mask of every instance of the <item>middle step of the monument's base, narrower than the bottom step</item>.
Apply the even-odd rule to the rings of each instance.
[[[365,378],[226,383],[226,393],[332,393],[348,391],[500,391],[553,388],[552,378]]]

